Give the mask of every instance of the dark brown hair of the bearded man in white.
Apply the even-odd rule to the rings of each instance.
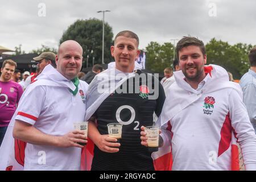
[[[181,51],[181,49],[183,49],[184,47],[188,47],[188,46],[198,46],[200,47],[203,55],[205,55],[206,53],[203,41],[192,36],[184,36],[182,39],[179,40],[176,46],[176,54],[177,54],[178,60],[179,60],[179,51]]]

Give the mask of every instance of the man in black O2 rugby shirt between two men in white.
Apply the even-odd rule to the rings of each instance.
[[[119,32],[111,47],[115,68],[98,74],[90,84],[86,96],[86,117],[90,119],[85,119],[90,121],[88,136],[94,142],[92,170],[154,170],[151,152],[141,145],[140,129],[153,125],[153,114],[159,116],[165,95],[158,78],[135,68],[138,46],[134,32]],[[115,82],[109,94],[97,95],[101,88],[98,80],[113,72],[115,81],[122,77],[117,75],[123,75],[121,81]],[[123,125],[120,143],[109,137],[108,123]]]

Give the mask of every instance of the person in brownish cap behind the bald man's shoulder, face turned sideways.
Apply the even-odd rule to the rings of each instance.
[[[36,68],[36,74],[27,77],[24,82],[23,89],[25,90],[28,85],[38,76],[48,64],[51,64],[53,68],[56,68],[55,63],[55,53],[53,52],[42,52],[38,57],[34,57],[33,59],[38,62]]]

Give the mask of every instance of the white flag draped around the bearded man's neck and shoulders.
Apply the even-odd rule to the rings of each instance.
[[[242,98],[242,90],[240,85],[236,82],[229,81],[228,72],[218,65],[210,64],[205,66],[205,84],[200,90],[193,89],[185,80],[185,76],[182,71],[174,72],[175,80],[174,84],[168,89],[168,96],[164,101],[163,110],[156,122],[158,125],[166,125],[170,119],[172,119],[177,113],[183,110],[185,107],[193,104],[199,100],[203,94],[215,92],[217,90],[232,88]],[[185,97],[189,96],[189,97]]]

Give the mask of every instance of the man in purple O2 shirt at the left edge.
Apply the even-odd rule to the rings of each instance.
[[[12,80],[17,64],[13,60],[3,61],[0,77],[0,146],[7,126],[22,96],[22,87]]]

